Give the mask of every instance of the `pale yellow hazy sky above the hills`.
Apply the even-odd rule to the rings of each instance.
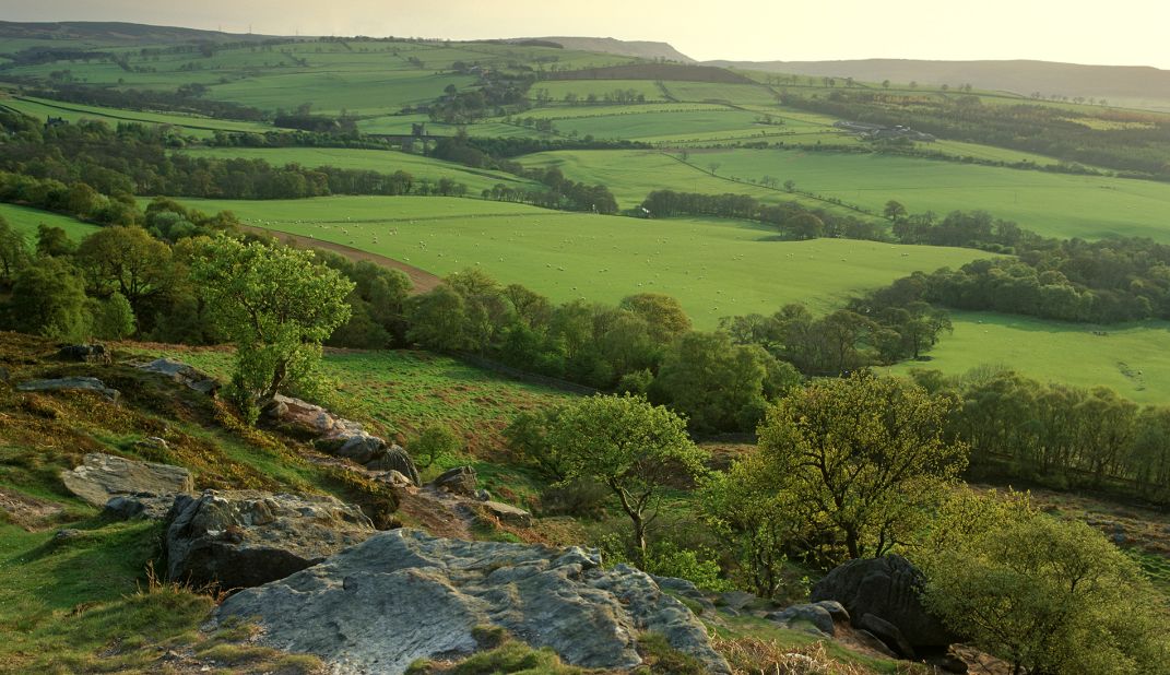
[[[0,0],[0,20],[670,42],[698,60],[1040,58],[1170,69],[1166,0]]]

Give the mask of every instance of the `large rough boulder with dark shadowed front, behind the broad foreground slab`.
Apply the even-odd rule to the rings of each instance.
[[[166,521],[171,579],[221,588],[282,579],[374,533],[357,507],[333,497],[255,490],[181,496]]]

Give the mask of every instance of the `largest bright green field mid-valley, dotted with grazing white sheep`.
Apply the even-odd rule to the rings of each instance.
[[[663,292],[679,298],[703,330],[724,316],[771,314],[791,302],[828,311],[914,270],[987,255],[848,240],[778,241],[772,229],[742,221],[634,220],[473,199],[184,202],[207,212],[230,209],[248,225],[352,246],[438,275],[479,268],[556,302],[617,303],[635,292]],[[476,214],[475,207],[483,211]]]

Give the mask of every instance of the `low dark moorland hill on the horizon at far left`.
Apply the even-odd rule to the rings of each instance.
[[[0,21],[0,39],[19,37],[26,40],[85,40],[111,43],[149,43],[166,42],[239,42],[242,40],[267,40],[268,35],[242,33],[220,33],[219,30],[200,30],[198,28],[178,28],[173,26],[147,26],[144,23],[124,23],[121,21],[60,21],[46,23],[18,23]]]

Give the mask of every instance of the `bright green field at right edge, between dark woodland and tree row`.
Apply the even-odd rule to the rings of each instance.
[[[952,335],[929,361],[890,369],[962,374],[991,365],[1041,381],[1107,386],[1138,404],[1170,404],[1170,322],[1090,325],[994,312],[951,312]]]

